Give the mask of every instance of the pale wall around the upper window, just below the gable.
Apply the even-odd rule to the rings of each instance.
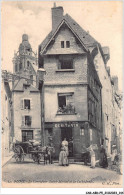
[[[44,85],[49,84],[67,84],[67,83],[87,83],[87,58],[84,55],[74,55],[74,70],[58,70],[59,59],[56,56],[47,56],[44,58]]]

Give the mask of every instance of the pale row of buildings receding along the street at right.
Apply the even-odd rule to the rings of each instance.
[[[94,64],[102,84],[102,127],[103,145],[108,155],[112,153],[112,146],[119,144],[120,103],[116,98],[118,94],[118,78],[112,77],[107,62],[110,58],[108,47],[97,44],[95,49]],[[117,141],[118,140],[118,141]]]

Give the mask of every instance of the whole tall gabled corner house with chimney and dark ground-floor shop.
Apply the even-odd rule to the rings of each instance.
[[[58,157],[61,142],[69,142],[69,157],[81,158],[85,147],[102,141],[102,105],[94,53],[96,41],[62,7],[52,8],[52,31],[39,45],[44,68],[45,144],[53,142]]]

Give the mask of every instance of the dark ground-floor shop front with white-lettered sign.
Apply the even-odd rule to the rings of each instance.
[[[45,144],[55,147],[55,157],[59,157],[61,143],[68,141],[69,158],[80,159],[84,147],[89,147],[90,136],[86,122],[45,123]]]

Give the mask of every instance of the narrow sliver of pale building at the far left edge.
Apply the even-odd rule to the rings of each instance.
[[[1,82],[1,133],[2,133],[2,157],[8,156],[13,140],[12,128],[12,101],[9,83],[3,79]]]

